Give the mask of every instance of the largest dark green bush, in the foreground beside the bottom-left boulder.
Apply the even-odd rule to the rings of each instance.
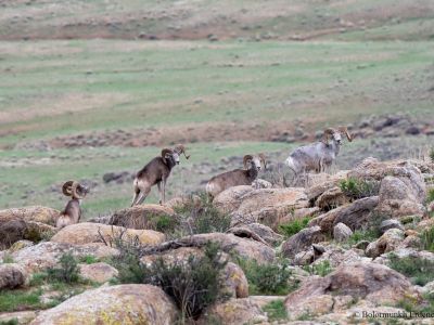
[[[181,323],[186,317],[197,318],[206,307],[227,298],[220,274],[228,261],[217,244],[208,243],[203,257],[191,255],[187,261],[174,262],[158,258],[151,265],[140,262],[138,243],[118,240],[116,247],[120,253],[112,263],[119,271],[117,282],[159,286],[181,310]]]

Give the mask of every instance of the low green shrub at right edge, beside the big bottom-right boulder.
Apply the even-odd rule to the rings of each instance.
[[[388,266],[409,277],[416,285],[423,286],[434,280],[434,262],[416,257],[399,258],[395,253],[388,256]]]

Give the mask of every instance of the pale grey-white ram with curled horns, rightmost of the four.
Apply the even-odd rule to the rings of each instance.
[[[326,129],[322,140],[297,147],[286,158],[285,164],[294,171],[296,179],[306,171],[321,172],[336,159],[342,145],[342,134],[353,141],[346,127]]]

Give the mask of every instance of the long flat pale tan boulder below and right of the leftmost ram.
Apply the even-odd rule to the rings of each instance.
[[[152,230],[124,229],[92,222],[81,222],[63,227],[52,238],[54,243],[89,244],[111,242],[111,238],[123,234],[123,238],[139,238],[140,243],[155,245],[164,242],[164,234]]]

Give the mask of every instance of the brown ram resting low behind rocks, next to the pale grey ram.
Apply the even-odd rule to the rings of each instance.
[[[220,192],[237,185],[251,185],[257,179],[258,172],[264,164],[264,169],[267,168],[267,162],[264,154],[255,156],[245,155],[243,158],[245,169],[234,169],[212,178],[206,184],[206,193],[210,197],[215,197]]]

